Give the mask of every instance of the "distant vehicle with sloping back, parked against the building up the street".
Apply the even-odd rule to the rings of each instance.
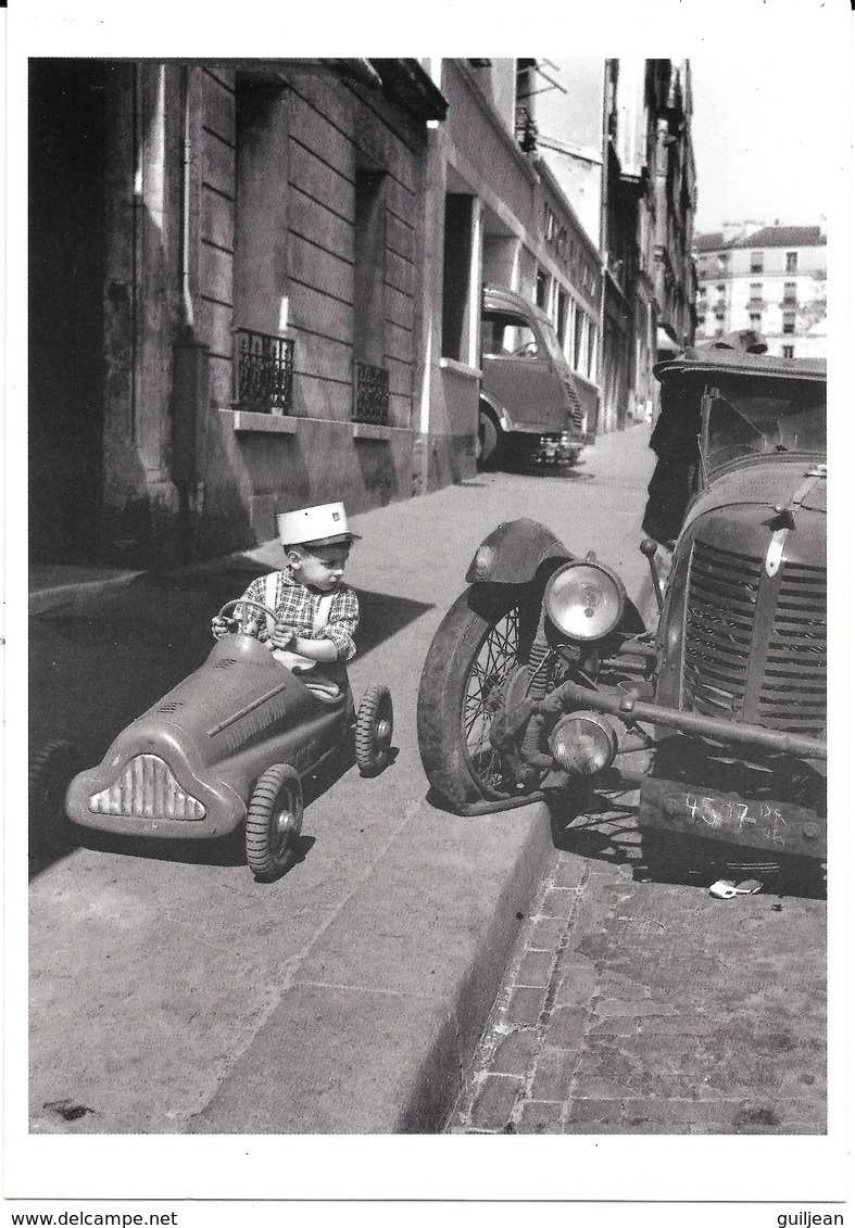
[[[572,464],[587,414],[545,312],[512,290],[485,286],[480,361],[479,463],[507,456]]]

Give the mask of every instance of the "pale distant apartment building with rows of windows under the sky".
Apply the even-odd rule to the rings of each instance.
[[[732,223],[698,235],[698,340],[762,333],[768,352],[827,356],[827,236],[818,226]]]

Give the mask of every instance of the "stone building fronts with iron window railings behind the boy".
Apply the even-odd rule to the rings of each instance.
[[[543,302],[596,420],[599,268],[513,60],[32,60],[33,560],[241,549],[474,473],[479,303]]]

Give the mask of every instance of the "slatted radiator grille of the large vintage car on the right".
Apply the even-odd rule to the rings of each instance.
[[[755,642],[763,560],[695,543],[687,587],[683,707],[818,734],[826,725],[826,571],[784,564],[768,646]],[[744,712],[748,667],[765,667]]]

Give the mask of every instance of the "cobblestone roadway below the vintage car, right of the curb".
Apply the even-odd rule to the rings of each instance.
[[[448,1132],[823,1133],[824,901],[644,880],[636,796],[556,851]]]

